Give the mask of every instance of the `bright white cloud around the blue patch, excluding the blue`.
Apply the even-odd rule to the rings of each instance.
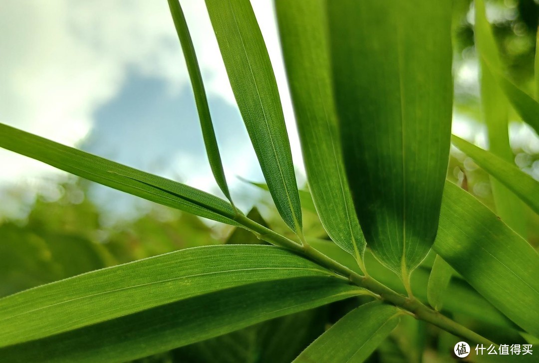
[[[181,3],[206,90],[235,104],[204,2]],[[253,5],[284,96],[294,160],[300,165],[272,1],[257,0]],[[95,111],[118,95],[129,72],[161,78],[170,92],[188,82],[165,1],[3,0],[0,24],[0,122],[57,142],[77,145],[84,139]],[[245,164],[241,153],[236,155],[237,162]],[[65,177],[52,167],[2,149],[0,165],[0,183],[30,183],[38,189],[36,183],[50,174]],[[209,186],[203,178],[197,176],[196,183]],[[206,178],[211,179],[211,174]]]

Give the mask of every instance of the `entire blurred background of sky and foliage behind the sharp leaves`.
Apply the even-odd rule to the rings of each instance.
[[[181,3],[234,200],[245,212],[257,205],[272,228],[288,233],[267,193],[245,181],[262,181],[262,173],[204,2]],[[488,148],[471,2],[454,3],[453,132]],[[282,96],[298,182],[306,189],[273,4],[252,4]],[[487,15],[513,81],[534,94],[539,2],[490,1]],[[0,29],[0,122],[222,195],[205,156],[166,1],[2,0]],[[539,180],[539,137],[513,110],[509,136],[516,165]],[[0,296],[180,248],[224,243],[234,232],[3,149],[0,166]],[[493,207],[488,175],[454,148],[448,178]],[[316,215],[303,207],[306,234],[326,238]],[[537,247],[539,219],[531,212],[526,218]]]

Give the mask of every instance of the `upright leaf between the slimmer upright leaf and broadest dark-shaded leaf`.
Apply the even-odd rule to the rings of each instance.
[[[323,0],[278,0],[281,43],[309,190],[330,238],[362,264],[365,239],[344,173]]]

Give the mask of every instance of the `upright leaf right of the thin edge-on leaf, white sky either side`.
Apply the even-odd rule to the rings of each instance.
[[[262,33],[248,0],[206,0],[236,102],[275,206],[301,234],[301,206],[285,118]]]

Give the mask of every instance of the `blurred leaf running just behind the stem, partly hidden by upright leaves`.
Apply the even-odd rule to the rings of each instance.
[[[479,202],[478,202],[479,203]],[[344,266],[361,273],[356,261],[348,253],[344,252],[335,243],[325,240],[307,239],[310,246],[316,248],[323,254],[344,264]],[[391,270],[382,266],[367,250],[365,252],[365,266],[369,270],[369,275],[382,282],[390,289],[405,293],[402,282]],[[416,269],[411,276],[412,292],[415,297],[422,302],[427,302],[427,283],[429,281],[430,270],[424,268]],[[488,324],[507,328],[515,327],[513,322],[507,319],[499,310],[485,300],[475,290],[469,287],[458,278],[453,278],[443,296],[444,311],[460,313],[481,320]],[[466,301],[466,304],[462,304]]]

